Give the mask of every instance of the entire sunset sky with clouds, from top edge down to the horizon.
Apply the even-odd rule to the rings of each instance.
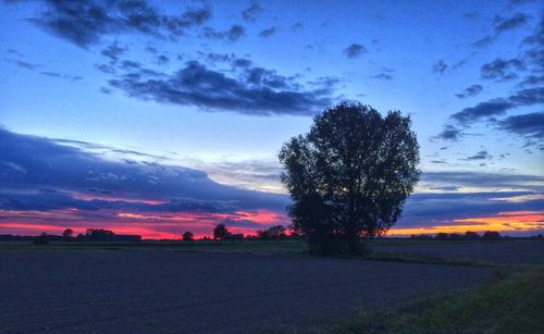
[[[342,101],[410,115],[388,235],[544,232],[542,1],[0,1],[0,234],[290,223],[277,152]]]

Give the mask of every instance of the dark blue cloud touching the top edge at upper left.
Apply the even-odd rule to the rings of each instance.
[[[101,42],[104,36],[124,33],[180,36],[211,16],[207,8],[188,8],[181,15],[168,15],[141,0],[40,2],[44,10],[29,21],[82,48]]]

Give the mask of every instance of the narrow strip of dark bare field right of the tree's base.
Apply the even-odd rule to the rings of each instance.
[[[390,245],[388,245],[390,244]],[[383,242],[374,251],[424,257],[455,258],[504,264],[544,264],[544,242]]]

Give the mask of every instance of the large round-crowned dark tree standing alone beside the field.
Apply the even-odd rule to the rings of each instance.
[[[357,252],[361,236],[381,235],[397,221],[420,174],[410,125],[399,111],[382,116],[369,106],[341,103],[284,144],[289,214],[313,250]]]

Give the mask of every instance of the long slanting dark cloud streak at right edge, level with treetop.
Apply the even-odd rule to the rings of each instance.
[[[544,103],[544,87],[522,89],[508,98],[481,102],[474,107],[465,108],[449,117],[462,125],[470,125],[474,121],[503,115],[509,109],[539,103]]]

